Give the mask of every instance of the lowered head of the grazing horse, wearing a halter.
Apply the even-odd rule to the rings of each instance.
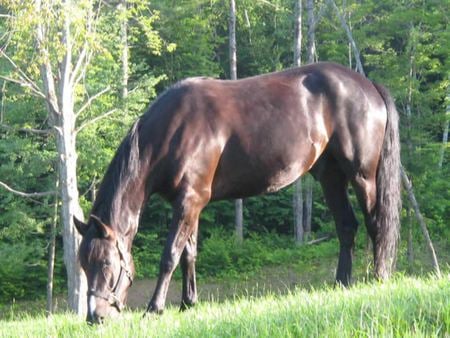
[[[122,311],[131,286],[134,265],[120,234],[91,215],[87,224],[74,218],[83,236],[78,253],[88,282],[89,323],[102,323]]]

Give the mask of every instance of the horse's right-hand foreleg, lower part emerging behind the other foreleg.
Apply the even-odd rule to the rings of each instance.
[[[184,311],[197,302],[197,285],[195,279],[195,260],[197,258],[197,230],[189,237],[181,255],[183,274],[183,295],[180,310]]]

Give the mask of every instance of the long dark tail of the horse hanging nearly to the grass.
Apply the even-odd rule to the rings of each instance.
[[[375,274],[389,277],[395,269],[397,244],[400,236],[401,181],[400,136],[398,112],[386,88],[375,84],[387,109],[383,149],[377,171]]]

